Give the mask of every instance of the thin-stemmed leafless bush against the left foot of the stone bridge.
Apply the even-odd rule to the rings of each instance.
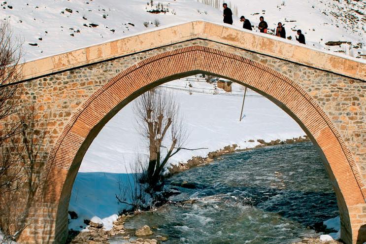
[[[32,224],[27,219],[47,160],[46,155],[41,154],[46,132],[39,129],[45,127],[47,121],[35,121],[34,112],[33,105],[18,108],[13,117],[19,121],[20,131],[6,139],[0,149],[9,158],[4,175],[12,176],[11,181],[7,181],[8,186],[2,189],[4,198],[0,199],[0,226],[8,240],[17,240]],[[4,161],[3,157],[1,161]]]

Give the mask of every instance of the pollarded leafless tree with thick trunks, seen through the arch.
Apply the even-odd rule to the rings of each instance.
[[[139,133],[146,139],[149,148],[149,160],[143,181],[149,189],[161,179],[169,158],[184,148],[188,135],[179,105],[172,93],[165,89],[153,89],[142,94],[133,105]]]

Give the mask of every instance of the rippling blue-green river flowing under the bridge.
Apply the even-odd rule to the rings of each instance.
[[[331,180],[310,142],[224,155],[172,176],[166,186],[181,192],[173,201],[198,201],[137,215],[126,228],[147,224],[155,236],[169,237],[166,244],[286,244],[314,236],[308,226],[338,215]]]

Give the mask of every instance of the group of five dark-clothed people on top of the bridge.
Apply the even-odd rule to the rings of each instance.
[[[224,23],[233,25],[233,12],[228,7],[228,4],[224,3]],[[268,25],[265,21],[265,18],[263,16],[259,17],[259,25],[258,29],[261,33],[267,33]],[[244,16],[240,17],[240,21],[243,22],[243,28],[246,30],[252,31],[252,25],[248,19],[245,19]],[[296,36],[296,40],[299,41],[299,43],[305,44],[305,36],[301,33],[301,30],[298,30],[298,35]],[[276,28],[276,36],[286,38],[286,30],[285,27],[282,26],[281,22],[278,22],[277,28]]]

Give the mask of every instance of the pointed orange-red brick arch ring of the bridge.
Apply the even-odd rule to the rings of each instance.
[[[166,51],[122,71],[96,91],[72,115],[51,150],[37,201],[57,203],[55,239],[67,230],[67,206],[82,158],[102,126],[149,88],[194,73],[210,73],[258,91],[292,116],[319,148],[333,181],[342,219],[342,239],[355,240],[349,209],[365,204],[361,174],[333,123],[295,81],[234,53],[191,46]],[[66,227],[65,227],[66,226]],[[358,228],[357,228],[358,230]],[[356,235],[357,238],[357,235]]]

